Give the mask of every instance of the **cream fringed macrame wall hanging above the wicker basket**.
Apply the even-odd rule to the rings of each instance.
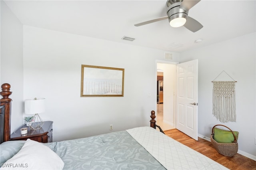
[[[226,71],[222,71],[220,74],[222,74],[223,72],[226,73]],[[228,73],[226,74],[228,75]],[[230,77],[230,75],[228,76]],[[232,77],[230,78],[232,79]],[[236,100],[235,100],[236,81],[234,79],[232,79],[233,81],[214,81],[214,80],[212,81],[213,83],[212,114],[217,118],[217,120],[219,120],[222,123],[226,123],[229,121],[235,122],[236,121]]]

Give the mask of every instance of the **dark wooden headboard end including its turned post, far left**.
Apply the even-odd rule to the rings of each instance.
[[[12,94],[10,91],[11,85],[8,83],[2,84],[2,91],[0,95],[0,143],[10,140],[11,137],[11,104],[12,99],[9,96]]]

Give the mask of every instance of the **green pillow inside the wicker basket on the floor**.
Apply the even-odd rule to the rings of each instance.
[[[236,141],[238,140],[239,132],[233,131],[236,136]],[[230,130],[223,130],[220,128],[214,128],[213,138],[218,143],[233,143],[234,136]]]

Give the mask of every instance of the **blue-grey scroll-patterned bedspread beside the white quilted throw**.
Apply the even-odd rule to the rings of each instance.
[[[47,144],[64,161],[64,170],[165,170],[128,132]]]

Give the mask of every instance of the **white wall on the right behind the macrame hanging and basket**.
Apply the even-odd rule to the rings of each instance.
[[[239,151],[255,159],[256,34],[180,54],[181,63],[193,59],[198,59],[198,133],[210,137],[214,125],[224,124],[239,131]],[[223,70],[237,81],[236,122],[221,123],[212,115],[212,80]]]

